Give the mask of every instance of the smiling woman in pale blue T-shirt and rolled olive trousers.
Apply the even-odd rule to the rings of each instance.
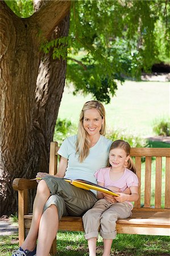
[[[74,187],[60,179],[84,179],[96,183],[94,172],[105,167],[111,141],[105,135],[105,109],[98,101],[84,104],[78,133],[65,139],[59,149],[61,160],[55,176],[39,172],[31,228],[13,256],[47,256],[62,216],[82,216],[97,201],[96,192]],[[36,246],[36,240],[38,243]]]

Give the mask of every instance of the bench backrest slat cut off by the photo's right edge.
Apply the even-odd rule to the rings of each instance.
[[[170,158],[166,158],[165,166],[165,208],[170,208]]]

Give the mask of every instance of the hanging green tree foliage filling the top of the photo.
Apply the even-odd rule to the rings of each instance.
[[[16,14],[31,14],[31,0],[6,2]],[[139,79],[141,70],[169,58],[169,27],[169,1],[72,1],[69,36],[42,40],[40,50],[68,60],[74,94],[92,93],[108,103],[117,80]]]

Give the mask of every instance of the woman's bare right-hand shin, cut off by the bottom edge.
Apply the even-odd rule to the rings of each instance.
[[[55,205],[51,205],[45,210],[40,220],[36,256],[48,256],[58,228],[58,210]]]

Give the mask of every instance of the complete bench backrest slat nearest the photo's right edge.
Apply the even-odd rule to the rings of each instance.
[[[162,158],[156,157],[156,171],[155,171],[155,208],[161,208],[161,172],[162,172]]]

